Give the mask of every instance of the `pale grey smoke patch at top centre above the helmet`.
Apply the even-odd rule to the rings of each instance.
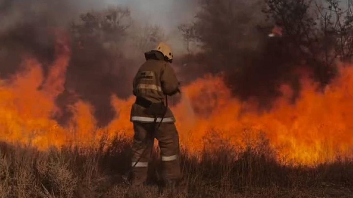
[[[178,26],[192,23],[199,7],[199,0],[105,0],[107,4],[128,6],[137,26],[158,26],[165,40],[172,45],[174,54],[185,53],[185,45]]]

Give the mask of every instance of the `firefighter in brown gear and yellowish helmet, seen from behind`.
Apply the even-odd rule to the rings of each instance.
[[[142,185],[147,178],[147,166],[154,138],[161,150],[162,177],[175,183],[181,176],[179,165],[179,136],[175,118],[167,106],[166,95],[179,92],[179,82],[170,63],[173,53],[166,43],[145,53],[146,62],[133,80],[136,102],[131,108],[134,138],[132,146],[132,186]]]

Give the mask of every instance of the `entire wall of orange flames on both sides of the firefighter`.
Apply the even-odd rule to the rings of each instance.
[[[30,144],[39,149],[63,145],[95,146],[104,134],[132,137],[127,100],[112,96],[115,119],[97,128],[93,107],[83,101],[71,106],[69,126],[60,126],[53,114],[60,110],[55,98],[64,90],[70,61],[70,44],[59,36],[56,61],[47,77],[34,59],[23,62],[24,70],[0,81],[0,140]],[[341,67],[337,77],[323,92],[303,79],[298,99],[293,103],[289,86],[274,101],[271,110],[257,111],[251,102],[232,97],[222,76],[205,76],[183,87],[181,102],[172,107],[183,147],[197,154],[205,147],[227,143],[236,149],[256,144],[262,135],[282,164],[316,165],[339,157],[353,158],[353,67]],[[216,134],[212,144],[205,141]]]

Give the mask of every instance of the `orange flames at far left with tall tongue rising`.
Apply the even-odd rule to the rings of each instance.
[[[41,64],[28,58],[23,62],[22,72],[1,81],[0,140],[46,149],[75,140],[87,143],[77,140],[93,136],[95,120],[91,115],[91,107],[82,101],[72,107],[74,120],[69,128],[63,128],[53,119],[54,113],[60,111],[55,106],[55,98],[64,91],[65,74],[71,56],[65,33],[56,33],[56,60],[46,78]]]

